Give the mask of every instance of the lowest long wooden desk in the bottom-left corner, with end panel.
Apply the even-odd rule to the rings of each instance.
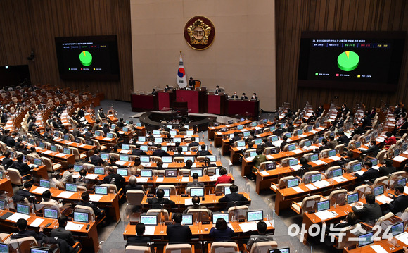
[[[11,212],[11,211],[0,210],[0,216],[6,214],[7,212]],[[30,214],[30,218],[27,219],[27,225],[30,226],[30,224],[33,223],[36,220],[36,218],[44,219],[44,221],[40,224],[40,226],[45,226],[46,224],[51,223],[51,226],[49,226],[48,228],[44,228],[44,233],[48,235],[52,229],[58,228],[58,219],[37,217],[34,214]],[[72,232],[72,235],[75,237],[75,240],[79,240],[82,243],[82,247],[87,248],[88,250],[91,248],[93,252],[97,252],[98,246],[99,246],[99,238],[98,238],[98,230],[96,229],[95,221],[91,221],[89,223],[79,223],[79,222],[72,221],[72,223],[84,225],[82,226],[81,230],[70,230]],[[17,232],[17,228],[15,226],[14,221],[0,220],[0,224],[2,226],[2,230],[7,230],[10,232]],[[89,224],[88,230],[87,230],[87,224]],[[32,227],[30,227],[30,229],[32,229]],[[38,231],[38,228],[34,228],[34,230]]]

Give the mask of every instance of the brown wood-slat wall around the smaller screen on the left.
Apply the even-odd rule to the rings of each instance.
[[[129,101],[130,32],[129,0],[1,0],[0,66],[28,64],[32,83],[103,92],[107,99]],[[119,81],[60,80],[54,38],[87,35],[117,35]],[[32,49],[35,59],[27,61]]]

